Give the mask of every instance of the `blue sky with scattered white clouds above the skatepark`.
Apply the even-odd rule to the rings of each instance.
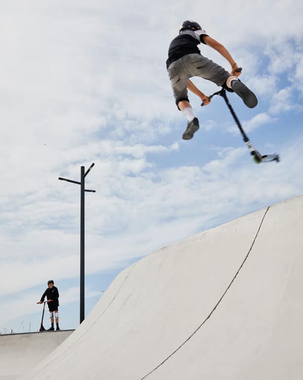
[[[186,9],[185,9],[186,8]],[[80,166],[86,193],[86,312],[140,257],[303,192],[303,5],[295,0],[111,3],[30,0],[0,22],[0,332],[39,327],[35,303],[52,278],[60,325],[79,320]],[[135,11],[134,11],[135,9]],[[228,97],[253,145],[279,164],[253,163],[223,99],[200,107],[182,141],[165,61],[195,19],[224,44],[258,96]],[[230,69],[208,46],[202,54]],[[206,94],[213,83],[194,79]],[[48,325],[47,316],[45,325]],[[6,330],[5,330],[6,329]]]

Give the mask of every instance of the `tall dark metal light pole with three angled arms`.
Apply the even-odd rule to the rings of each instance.
[[[85,173],[85,167],[81,166],[80,172],[80,182],[67,180],[66,178],[59,177],[59,180],[71,182],[72,184],[80,185],[80,323],[84,321],[84,309],[85,309],[85,293],[84,293],[84,282],[85,282],[85,208],[84,208],[84,192],[96,192],[96,190],[85,190],[85,177],[92,170],[94,162],[88,168]]]

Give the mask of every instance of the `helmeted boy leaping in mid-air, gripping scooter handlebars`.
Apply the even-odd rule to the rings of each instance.
[[[201,55],[198,49],[201,42],[217,50],[227,59],[232,68],[231,74]],[[186,131],[182,136],[184,140],[192,139],[199,129],[199,120],[189,103],[187,89],[198,95],[204,105],[209,104],[208,97],[189,80],[190,77],[200,76],[224,87],[227,91],[236,92],[249,108],[256,107],[258,103],[255,94],[237,78],[240,75],[237,71],[239,68],[227,49],[209,37],[195,21],[186,20],[182,23],[179,36],[170,43],[166,63],[176,105],[188,119]]]

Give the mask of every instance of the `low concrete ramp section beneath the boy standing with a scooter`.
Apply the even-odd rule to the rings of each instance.
[[[0,335],[0,380],[15,380],[28,373],[72,332]]]

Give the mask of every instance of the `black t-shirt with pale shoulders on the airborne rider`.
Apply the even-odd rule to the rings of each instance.
[[[192,31],[184,30],[179,36],[174,38],[169,45],[168,60],[166,61],[166,67],[187,54],[198,53],[198,45],[203,41],[203,38],[207,36],[204,30]]]

